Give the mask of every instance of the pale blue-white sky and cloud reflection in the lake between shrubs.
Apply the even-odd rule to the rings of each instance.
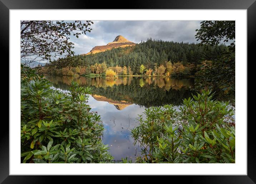
[[[109,145],[109,151],[114,158],[132,159],[138,156],[137,149],[140,150],[140,148],[138,145],[133,145],[130,130],[138,124],[137,114],[142,114],[144,108],[132,104],[120,111],[110,103],[97,101],[92,96],[88,104],[92,107],[91,111],[97,111],[101,116],[105,128],[102,140],[104,144]]]

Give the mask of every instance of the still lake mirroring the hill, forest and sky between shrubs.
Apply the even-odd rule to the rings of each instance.
[[[88,104],[97,112],[104,125],[103,143],[109,145],[109,152],[115,160],[136,158],[140,146],[133,145],[131,129],[138,125],[138,114],[145,108],[173,104],[177,108],[182,99],[191,96],[193,78],[159,77],[101,77],[46,76],[53,87],[68,92],[72,81],[80,86],[92,88]]]

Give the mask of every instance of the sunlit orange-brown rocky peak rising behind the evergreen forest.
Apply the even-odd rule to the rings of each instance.
[[[91,53],[94,54],[94,53],[98,53],[98,52],[104,52],[104,51],[110,50],[112,48],[134,46],[134,45],[136,45],[136,44],[125,39],[122,35],[118,35],[117,37],[115,37],[113,42],[110,42],[107,45],[95,46],[95,47],[93,47],[93,49],[90,52],[88,52],[86,54],[82,54],[82,55],[89,55]]]

